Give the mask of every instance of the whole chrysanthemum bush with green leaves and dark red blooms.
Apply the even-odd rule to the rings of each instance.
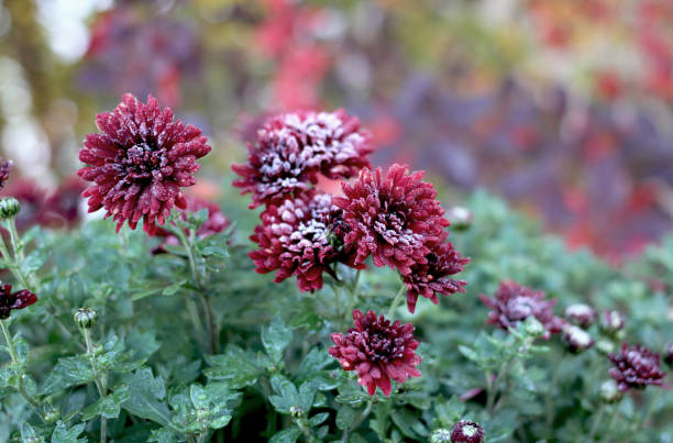
[[[0,440],[673,432],[670,242],[615,269],[483,192],[445,211],[423,173],[372,168],[345,111],[269,117],[225,210],[189,193],[206,137],[155,99],[97,123],[79,175],[117,232],[20,234],[0,200]]]

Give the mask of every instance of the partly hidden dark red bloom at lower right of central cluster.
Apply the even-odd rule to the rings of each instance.
[[[451,242],[446,242],[448,235],[442,236],[441,242],[429,245],[430,254],[426,255],[424,264],[415,264],[411,272],[402,275],[402,283],[407,286],[407,308],[413,313],[418,296],[429,298],[434,304],[439,302],[437,294],[450,296],[454,292],[464,292],[467,281],[451,278],[457,274],[470,262],[470,258],[461,257],[453,248]]]

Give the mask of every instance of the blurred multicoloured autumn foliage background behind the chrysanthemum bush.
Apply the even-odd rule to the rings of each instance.
[[[0,4],[24,226],[78,222],[77,151],[126,91],[203,129],[212,197],[265,114],[343,107],[376,164],[427,169],[450,203],[487,188],[610,263],[673,226],[671,0]]]

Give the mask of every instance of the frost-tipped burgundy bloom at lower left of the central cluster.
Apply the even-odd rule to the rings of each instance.
[[[313,291],[322,287],[323,272],[333,275],[332,264],[354,266],[351,248],[343,245],[345,229],[330,195],[302,193],[262,213],[251,236],[260,248],[249,256],[257,273],[277,270],[276,283],[296,275],[299,289]]]

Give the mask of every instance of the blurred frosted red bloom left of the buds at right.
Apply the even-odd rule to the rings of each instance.
[[[479,296],[484,304],[493,309],[488,312],[488,323],[500,329],[516,328],[518,323],[534,317],[544,326],[545,340],[561,332],[563,320],[554,315],[555,299],[545,300],[544,292],[519,285],[516,281],[500,281],[494,298]]]

